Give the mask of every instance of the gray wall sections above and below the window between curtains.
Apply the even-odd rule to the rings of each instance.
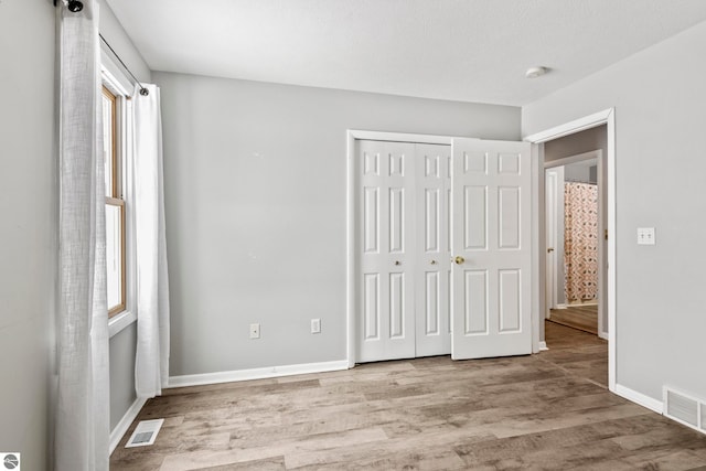
[[[100,2],[100,34],[120,55],[140,81],[149,83],[150,69],[130,42],[125,30],[115,18],[113,10]],[[115,69],[122,72],[118,63],[108,54],[107,57]],[[128,281],[129,282],[129,281]],[[135,351],[137,345],[137,324],[132,323],[110,338],[110,429],[113,430],[125,413],[130,408],[137,394],[135,393]]]

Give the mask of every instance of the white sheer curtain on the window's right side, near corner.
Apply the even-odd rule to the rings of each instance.
[[[164,238],[162,119],[159,88],[136,87],[135,245],[137,256],[137,355],[135,385],[139,397],[162,393],[169,379],[169,281]]]

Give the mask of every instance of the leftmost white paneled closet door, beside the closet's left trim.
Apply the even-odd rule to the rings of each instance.
[[[357,146],[357,362],[414,357],[415,144]]]

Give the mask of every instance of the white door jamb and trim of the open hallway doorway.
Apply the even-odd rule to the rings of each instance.
[[[608,228],[608,279],[606,280],[606,291],[608,297],[608,389],[616,392],[616,352],[617,352],[617,335],[616,335],[616,113],[614,108],[605,109],[602,111],[589,115],[569,122],[565,122],[559,126],[546,129],[544,131],[527,136],[525,141],[532,142],[535,151],[538,153],[541,150],[539,144],[557,139],[564,136],[573,135],[586,129],[595,128],[597,126],[606,125],[607,127],[607,149],[606,149],[606,173],[607,173],[607,228]],[[534,152],[533,152],[534,153]],[[539,159],[535,159],[536,171],[534,172],[535,179],[538,179]],[[538,180],[535,180],[535,189],[541,189],[541,185],[536,184]],[[541,197],[537,190],[535,190],[535,197]],[[535,205],[537,207],[537,205]],[[535,225],[537,223],[535,222]],[[537,225],[538,227],[538,225]],[[533,233],[536,232],[533,229]],[[539,250],[539,244],[536,244],[535,249]],[[534,302],[533,311],[535,314],[535,341],[539,343],[539,312],[544,312],[544,297],[539,292],[539,254],[535,257],[535,267],[533,268],[533,275],[536,277],[536,285],[534,289]]]

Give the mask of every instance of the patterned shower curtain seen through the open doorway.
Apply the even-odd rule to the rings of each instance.
[[[564,260],[566,300],[598,297],[598,188],[564,184]]]

